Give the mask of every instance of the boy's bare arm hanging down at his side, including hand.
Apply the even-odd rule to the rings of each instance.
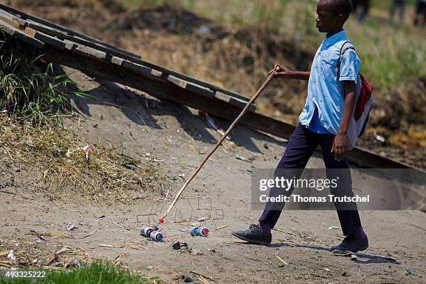
[[[340,161],[347,153],[347,127],[351,120],[352,113],[356,104],[356,86],[354,81],[344,81],[345,86],[345,104],[343,104],[342,119],[336,136],[334,137],[331,152],[334,152],[334,159]]]

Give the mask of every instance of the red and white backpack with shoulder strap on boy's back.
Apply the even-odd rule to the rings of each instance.
[[[340,58],[338,60],[338,76],[340,75],[340,63],[342,62],[343,55],[348,49],[354,49],[354,45],[351,42],[345,42],[340,49]],[[358,84],[361,82],[361,84]],[[352,150],[358,138],[360,138],[365,129],[368,126],[368,120],[370,120],[370,111],[372,107],[372,88],[368,81],[358,72],[358,79],[356,84],[356,104],[354,113],[352,114],[351,120],[347,128],[347,148]]]

